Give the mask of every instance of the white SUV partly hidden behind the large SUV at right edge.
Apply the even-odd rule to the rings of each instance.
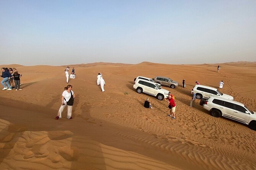
[[[233,100],[234,98],[230,95],[223,94],[217,88],[203,86],[203,85],[195,85],[193,88],[194,93],[196,94],[197,99],[201,98],[209,98],[210,96],[220,96],[225,99]]]

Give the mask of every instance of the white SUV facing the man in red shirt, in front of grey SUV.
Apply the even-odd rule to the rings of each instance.
[[[143,79],[138,79],[134,83],[133,88],[135,88],[138,93],[147,93],[156,96],[159,100],[167,98],[169,93],[168,90],[161,88],[157,83]]]

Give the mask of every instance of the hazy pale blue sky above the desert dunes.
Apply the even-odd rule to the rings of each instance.
[[[0,64],[256,61],[255,0],[0,0]]]

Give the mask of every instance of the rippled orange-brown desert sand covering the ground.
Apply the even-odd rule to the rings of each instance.
[[[1,67],[16,67],[23,76],[22,90],[0,90],[0,170],[256,169],[256,131],[212,117],[198,99],[189,107],[196,80],[211,87],[223,80],[220,91],[256,111],[256,62],[69,65],[77,74],[69,82],[76,95],[71,120],[67,108],[54,119],[66,66]],[[96,85],[99,72],[104,92]],[[175,96],[176,120],[167,117],[166,101],[135,91],[139,75],[179,82],[174,89],[163,87]],[[143,107],[146,98],[154,109]]]

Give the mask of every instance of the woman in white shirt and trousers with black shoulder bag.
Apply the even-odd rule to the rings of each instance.
[[[63,91],[62,97],[61,97],[61,106],[60,106],[60,109],[59,109],[58,114],[55,117],[55,119],[61,118],[61,113],[62,113],[63,109],[66,106],[68,106],[67,102],[71,98],[71,93],[73,95],[73,98],[75,99],[74,92],[71,90],[72,89],[72,85],[67,85],[67,87],[65,87],[64,89],[65,89],[65,91]],[[72,115],[72,106],[68,106],[67,119],[72,119],[71,115]]]

